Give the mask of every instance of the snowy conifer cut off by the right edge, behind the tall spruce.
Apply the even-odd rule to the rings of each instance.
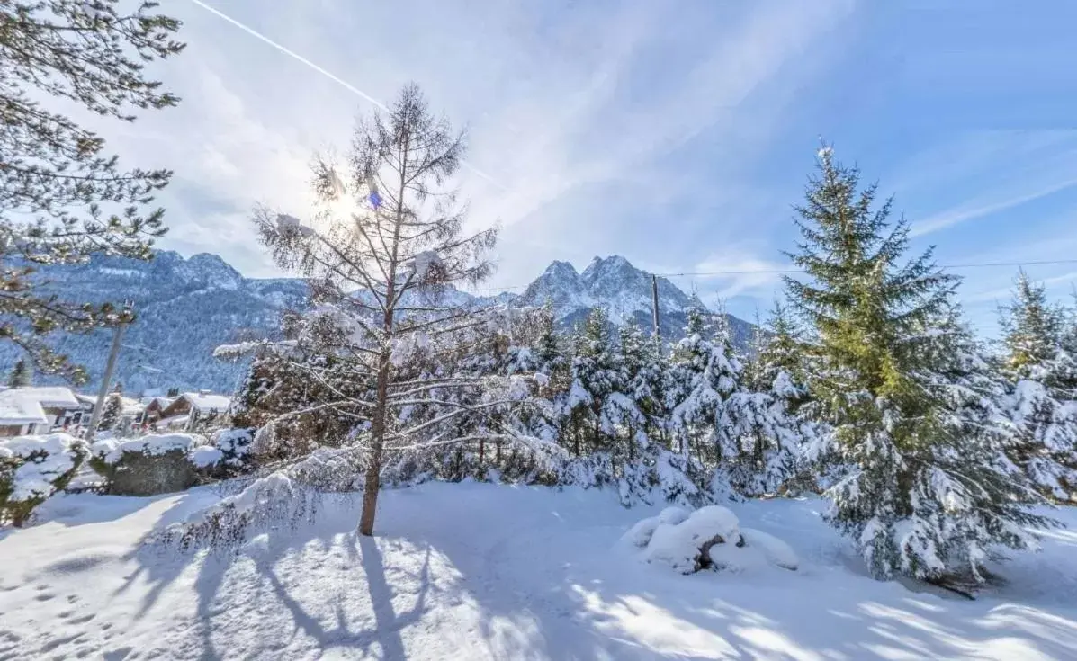
[[[999,321],[1013,383],[1010,456],[1040,491],[1067,500],[1077,492],[1077,346],[1066,311],[1022,272]]]

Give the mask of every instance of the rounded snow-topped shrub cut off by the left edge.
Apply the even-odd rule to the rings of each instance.
[[[0,523],[25,523],[67,487],[87,455],[85,444],[68,434],[0,440]]]

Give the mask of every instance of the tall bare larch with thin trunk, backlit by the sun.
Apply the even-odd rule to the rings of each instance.
[[[446,296],[448,285],[490,273],[486,255],[496,239],[494,229],[464,235],[464,212],[446,189],[463,151],[463,136],[408,85],[388,114],[359,124],[346,177],[331,159],[317,160],[316,217],[323,229],[267,209],[255,217],[278,266],[311,282],[313,305],[297,322],[295,347],[325,360],[305,366],[309,378],[373,385],[368,397],[330,388],[317,402],[353,421],[348,447],[365,466],[362,535],[374,533],[389,453],[466,444],[475,435],[462,419],[526,395],[518,378],[442,367],[444,357],[501,323],[498,309]],[[487,394],[473,404],[478,391]]]

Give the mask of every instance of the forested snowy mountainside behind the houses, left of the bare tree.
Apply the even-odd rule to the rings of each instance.
[[[132,394],[172,386],[232,391],[243,366],[222,363],[212,356],[213,349],[271,336],[280,311],[302,306],[307,295],[299,280],[244,278],[207,253],[183,258],[159,251],[151,262],[101,257],[45,267],[39,275],[65,300],[134,301],[138,321],[125,333],[116,364],[117,381]],[[58,337],[55,346],[96,381],[104,371],[111,339],[111,332],[98,330]],[[17,357],[11,342],[0,343],[0,368],[10,368]]]

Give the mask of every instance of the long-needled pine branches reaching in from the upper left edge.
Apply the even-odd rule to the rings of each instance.
[[[180,23],[154,14],[155,6],[142,2],[128,12],[117,0],[0,2],[0,339],[29,353],[43,374],[78,383],[85,370],[52,351],[45,336],[130,321],[131,312],[43,293],[36,267],[106,254],[149,259],[165,227],[162,209],[145,209],[171,172],[121,169],[100,136],[41,100],[122,121],[176,104],[144,71],[146,62],[183,50],[172,40]]]

